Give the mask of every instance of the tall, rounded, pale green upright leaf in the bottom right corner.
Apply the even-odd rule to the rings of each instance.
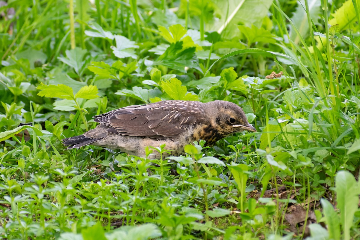
[[[335,176],[335,192],[337,208],[340,210],[340,222],[343,226],[343,239],[350,240],[350,228],[359,204],[359,184],[354,175],[347,171],[339,171]]]

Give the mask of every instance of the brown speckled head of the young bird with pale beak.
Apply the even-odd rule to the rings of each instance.
[[[229,101],[212,101],[209,104],[208,116],[211,116],[211,124],[225,135],[243,130],[256,132],[245,116],[242,108]]]

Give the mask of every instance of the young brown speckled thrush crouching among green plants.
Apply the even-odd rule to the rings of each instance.
[[[145,158],[146,146],[165,144],[170,152],[162,157],[168,157],[184,154],[184,146],[194,141],[204,140],[204,146],[212,146],[231,133],[256,132],[242,108],[221,100],[164,100],[119,108],[93,118],[100,123],[94,129],[62,140],[67,149],[95,145]],[[159,153],[148,156],[159,157]]]

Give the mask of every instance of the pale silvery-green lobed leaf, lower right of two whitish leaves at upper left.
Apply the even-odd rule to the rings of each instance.
[[[118,58],[138,58],[135,54],[135,49],[139,48],[134,41],[130,41],[124,36],[115,35],[116,47],[111,46],[113,54]]]

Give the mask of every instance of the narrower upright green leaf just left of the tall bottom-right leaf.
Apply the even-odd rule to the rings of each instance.
[[[340,219],[337,212],[335,212],[333,205],[328,200],[322,198],[320,203],[323,207],[323,214],[328,225],[330,239],[340,240]]]

